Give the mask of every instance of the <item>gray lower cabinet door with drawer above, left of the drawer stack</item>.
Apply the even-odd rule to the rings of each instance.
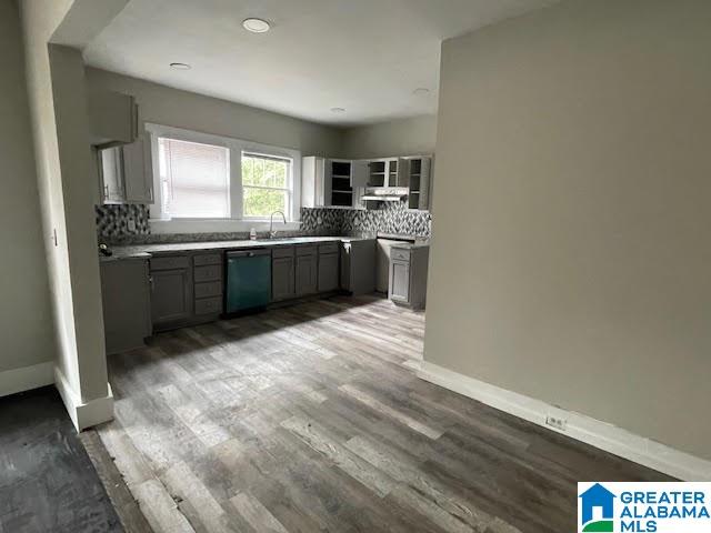
[[[176,255],[151,260],[151,311],[153,328],[169,329],[192,316],[192,269],[189,258]]]

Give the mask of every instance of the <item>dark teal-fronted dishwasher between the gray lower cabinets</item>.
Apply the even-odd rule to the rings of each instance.
[[[271,301],[271,251],[228,252],[226,261],[227,313],[266,308]]]

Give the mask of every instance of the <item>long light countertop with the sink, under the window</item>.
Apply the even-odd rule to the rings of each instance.
[[[287,239],[258,239],[256,241],[206,241],[206,242],[173,242],[164,244],[136,244],[129,247],[111,247],[111,257],[101,255],[101,261],[117,261],[121,259],[150,259],[153,255],[177,252],[198,252],[206,250],[240,250],[250,248],[274,248],[293,244],[309,244],[319,242],[352,242],[372,240],[362,237],[293,237]]]

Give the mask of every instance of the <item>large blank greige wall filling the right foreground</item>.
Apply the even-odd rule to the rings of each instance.
[[[444,42],[425,360],[711,459],[711,2]]]

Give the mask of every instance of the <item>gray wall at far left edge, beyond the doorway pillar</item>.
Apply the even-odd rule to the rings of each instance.
[[[0,0],[0,372],[49,362],[56,349],[42,249],[20,20]]]

